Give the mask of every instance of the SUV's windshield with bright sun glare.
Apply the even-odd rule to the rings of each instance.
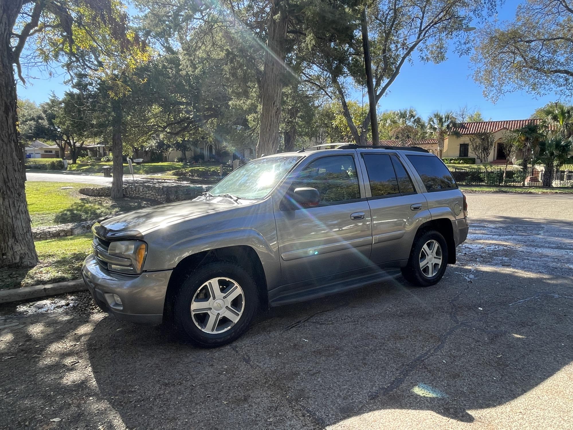
[[[260,200],[277,185],[300,157],[260,158],[233,171],[209,192],[213,196],[232,194],[240,198]]]

